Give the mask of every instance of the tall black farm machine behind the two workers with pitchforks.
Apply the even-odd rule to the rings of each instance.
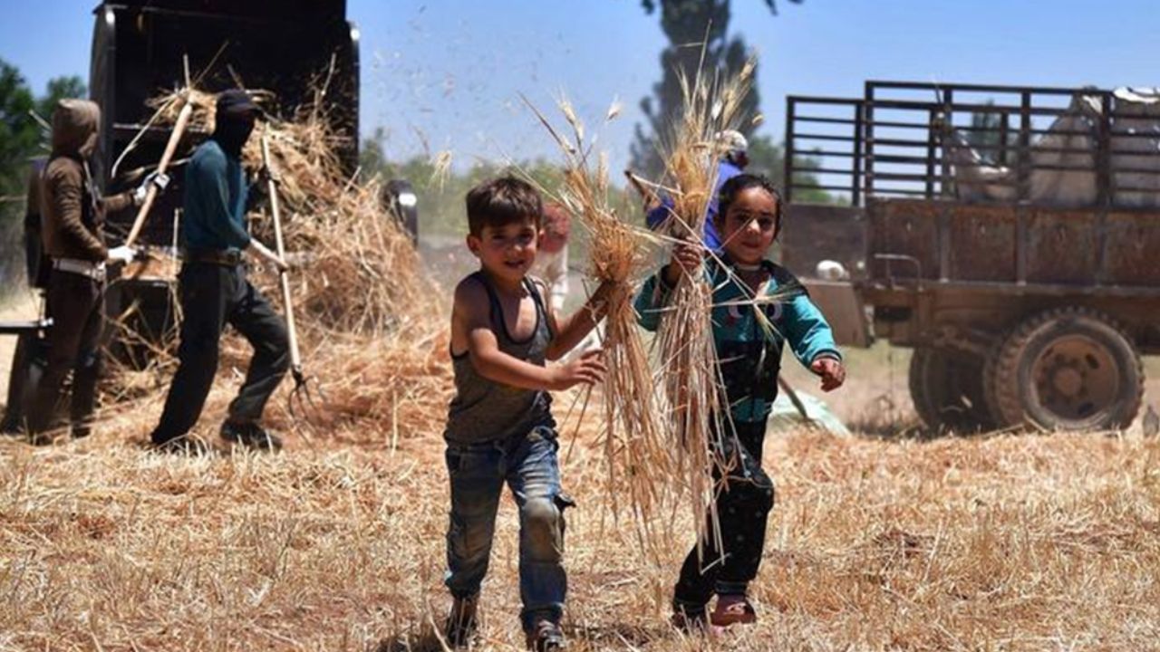
[[[234,88],[271,90],[283,117],[311,102],[318,81],[328,79],[327,115],[342,138],[340,154],[349,172],[358,162],[358,28],[347,21],[346,0],[109,0],[94,9],[89,93],[102,107],[102,123],[93,174],[106,194],[136,186],[161,158],[167,128],[146,126],[154,109],[147,101],[165,89],[184,85],[190,73],[202,90]],[[212,65],[211,65],[212,64]],[[114,165],[132,139],[136,146]],[[183,158],[209,135],[190,129],[171,168],[169,188],[154,203],[142,245],[176,246],[182,205]],[[405,181],[392,181],[384,203],[418,229],[414,194]],[[128,234],[136,212],[109,215],[107,238],[117,242]],[[137,335],[114,336],[109,349],[119,361],[144,365],[173,326],[175,265],[150,265],[113,278],[106,296],[109,316],[126,316]],[[12,325],[14,328],[17,325]],[[12,369],[10,386],[28,393],[35,385],[37,360],[43,357],[41,321],[21,329],[21,364]],[[12,328],[8,328],[12,331]],[[37,340],[28,341],[24,340]],[[37,353],[38,352],[38,353]],[[7,428],[20,421],[20,404],[8,401]]]

